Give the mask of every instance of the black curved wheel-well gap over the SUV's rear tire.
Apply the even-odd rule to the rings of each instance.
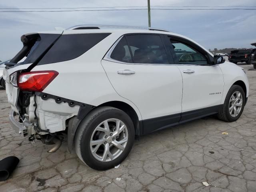
[[[142,123],[140,123],[138,115],[129,104],[122,101],[110,101],[110,102],[103,103],[99,106],[110,106],[126,112],[130,116],[134,124],[135,135],[136,136],[142,135]]]

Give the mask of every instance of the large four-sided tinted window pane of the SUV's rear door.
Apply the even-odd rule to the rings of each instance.
[[[126,39],[131,48],[134,63],[169,63],[159,35],[129,35]]]

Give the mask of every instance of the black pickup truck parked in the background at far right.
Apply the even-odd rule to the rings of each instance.
[[[255,49],[241,49],[230,52],[228,60],[234,64],[238,62],[246,62],[246,64],[252,64],[252,53]]]

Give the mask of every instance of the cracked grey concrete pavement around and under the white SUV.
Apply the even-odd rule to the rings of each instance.
[[[240,66],[250,94],[238,121],[211,116],[142,136],[120,167],[107,171],[85,166],[66,151],[66,142],[47,153],[51,146],[22,139],[10,128],[10,106],[0,88],[0,159],[20,158],[0,191],[256,192],[256,71]]]

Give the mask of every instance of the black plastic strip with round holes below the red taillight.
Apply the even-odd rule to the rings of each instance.
[[[76,118],[81,119],[81,120],[84,118],[84,116],[86,116],[86,114],[88,114],[88,112],[90,112],[90,110],[92,110],[95,107],[93,105],[81,103],[81,102],[78,102],[78,101],[66,99],[66,98],[63,98],[63,97],[51,95],[51,94],[44,93],[44,92],[35,92],[35,95],[40,96],[42,98],[42,100],[47,100],[49,98],[52,98],[58,104],[60,104],[61,102],[64,102],[64,103],[67,102],[70,107],[74,107],[76,105],[79,105],[80,109],[78,111],[78,115],[77,115]]]

